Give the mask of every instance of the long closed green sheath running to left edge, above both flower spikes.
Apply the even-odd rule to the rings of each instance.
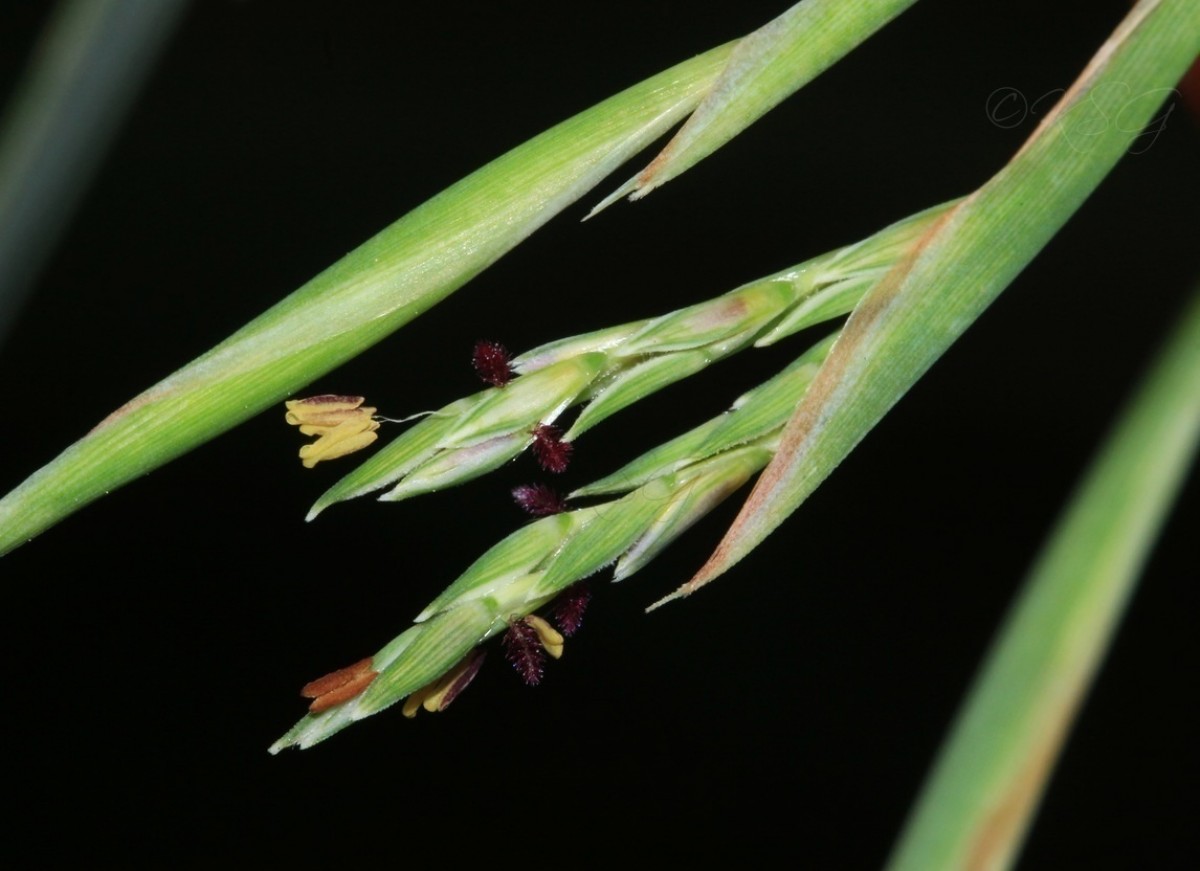
[[[391,334],[690,112],[731,47],[647,79],[468,175],[106,418],[0,500],[0,554]]]

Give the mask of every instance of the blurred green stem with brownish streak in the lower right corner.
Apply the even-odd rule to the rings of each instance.
[[[888,867],[1020,849],[1200,437],[1200,286],[1026,581]]]

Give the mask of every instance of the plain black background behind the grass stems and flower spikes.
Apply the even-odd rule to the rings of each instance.
[[[196,4],[0,350],[0,489],[467,172],[785,6]],[[523,349],[665,312],[966,193],[1037,121],[997,126],[989,95],[1067,86],[1124,8],[925,0],[685,176],[581,224],[604,186],[308,392],[433,408],[475,389],[476,338]],[[43,17],[5,13],[5,94]],[[523,522],[508,488],[539,476],[528,458],[305,524],[352,461],[304,470],[277,409],[6,555],[6,828],[46,859],[572,866],[644,842],[679,860],[878,866],[1195,278],[1198,127],[1169,106],[1162,134],[772,539],[643,617],[703,561],[731,500],[600,584],[535,690],[493,651],[445,714],[392,710],[266,753],[305,680],[380,647]],[[802,347],[611,420],[581,439],[566,486]],[[1194,861],[1198,516],[1193,480],[1022,867]]]

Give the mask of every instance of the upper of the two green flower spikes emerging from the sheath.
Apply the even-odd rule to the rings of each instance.
[[[410,427],[324,493],[308,517],[384,487],[391,489],[380,499],[395,501],[462,483],[516,457],[536,427],[572,406],[586,403],[565,436],[569,441],[734,352],[846,314],[952,205],[706,302],[534,348],[512,361],[517,378]]]

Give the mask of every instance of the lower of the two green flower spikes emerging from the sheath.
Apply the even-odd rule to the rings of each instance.
[[[575,494],[623,495],[534,521],[492,547],[410,629],[370,663],[356,665],[358,673],[376,672],[360,695],[308,714],[271,751],[311,746],[437,685],[475,647],[605,566],[616,564],[614,579],[641,569],[767,464],[835,338],[811,348],[720,416]]]

